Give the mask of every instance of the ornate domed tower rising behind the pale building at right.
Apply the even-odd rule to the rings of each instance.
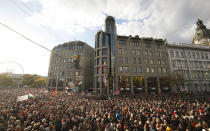
[[[193,44],[210,46],[210,30],[206,28],[203,21],[200,19],[197,20],[196,25],[197,28],[193,37]]]

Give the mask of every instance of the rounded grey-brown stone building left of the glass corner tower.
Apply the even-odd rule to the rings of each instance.
[[[74,57],[80,58],[80,68],[75,68]],[[72,41],[53,48],[50,56],[49,88],[63,89],[81,82],[81,90],[93,88],[94,49],[82,41]]]

